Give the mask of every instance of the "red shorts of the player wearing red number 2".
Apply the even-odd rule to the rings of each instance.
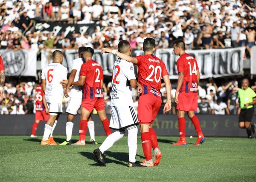
[[[103,97],[102,99],[83,99],[81,106],[89,112],[92,112],[93,108],[95,108],[96,111],[102,111],[105,109],[105,102]]]

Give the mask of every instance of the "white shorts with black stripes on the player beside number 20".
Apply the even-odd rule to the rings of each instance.
[[[139,125],[133,106],[111,106],[111,112],[109,128],[113,130]]]

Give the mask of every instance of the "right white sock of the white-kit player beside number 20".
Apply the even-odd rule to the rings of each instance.
[[[128,131],[128,148],[129,148],[129,162],[136,162],[137,153],[137,126],[127,128]]]

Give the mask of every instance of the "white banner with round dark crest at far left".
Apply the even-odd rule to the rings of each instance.
[[[1,49],[6,76],[32,76],[36,77],[36,56],[38,49]]]

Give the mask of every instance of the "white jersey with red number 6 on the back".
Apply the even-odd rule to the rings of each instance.
[[[44,74],[44,75],[43,75]],[[67,80],[67,68],[60,63],[50,63],[42,72],[46,80],[45,99],[50,103],[60,103],[63,98],[62,80]]]

